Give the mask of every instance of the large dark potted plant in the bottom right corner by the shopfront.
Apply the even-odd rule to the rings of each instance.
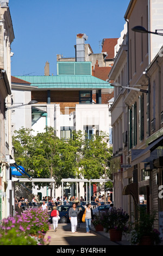
[[[160,233],[153,228],[156,220],[156,212],[148,213],[146,206],[139,209],[139,218],[131,224],[130,242],[133,245],[159,245],[161,242]]]

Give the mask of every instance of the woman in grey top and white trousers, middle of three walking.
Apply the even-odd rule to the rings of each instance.
[[[82,208],[77,208],[76,203],[72,204],[72,208],[70,208],[68,214],[69,214],[69,219],[71,222],[71,231],[72,233],[75,233],[77,231],[77,225],[78,225],[78,214]]]

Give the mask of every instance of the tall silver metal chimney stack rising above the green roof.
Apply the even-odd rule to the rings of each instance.
[[[85,62],[85,40],[88,36],[86,34],[77,34],[76,38],[76,61]]]

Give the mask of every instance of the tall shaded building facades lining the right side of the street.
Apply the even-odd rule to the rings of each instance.
[[[120,139],[122,151],[117,152],[118,128],[113,128],[114,154],[120,158],[116,161],[117,169],[113,171],[115,202],[120,196],[121,202],[118,204],[130,214],[134,213],[135,217],[137,217],[136,209],[139,204],[146,204],[148,211],[156,209],[158,216],[162,211],[162,201],[159,198],[159,187],[162,185],[162,91],[160,86],[162,37],[151,33],[136,33],[132,28],[143,26],[147,31],[161,29],[162,12],[161,1],[130,1],[124,15],[127,22],[127,56],[122,58],[121,64],[120,56],[125,45],[124,39],[109,76],[121,86],[130,87],[115,89],[115,102],[112,105],[111,114],[120,105],[121,109],[118,111],[117,118],[112,117],[112,125],[117,125],[122,117],[124,136]],[[127,72],[122,75],[121,69],[125,66],[124,63],[126,63]],[[117,69],[117,75],[121,72],[119,80],[117,75],[114,75],[114,69]],[[123,83],[123,76],[127,76],[126,83]],[[118,99],[121,100],[121,104]],[[125,123],[128,125],[125,126]],[[114,159],[112,161],[114,162]],[[156,166],[153,165],[155,161]],[[122,164],[123,168],[121,168]],[[155,227],[158,228],[158,225],[157,221]]]

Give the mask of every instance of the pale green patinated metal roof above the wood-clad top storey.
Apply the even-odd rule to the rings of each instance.
[[[15,76],[30,82],[31,86],[38,88],[72,88],[72,89],[111,89],[109,82],[103,81],[91,75],[68,75],[68,76]]]

